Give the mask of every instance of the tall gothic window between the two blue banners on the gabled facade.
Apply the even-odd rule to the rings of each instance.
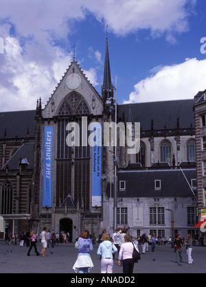
[[[89,209],[90,146],[82,145],[82,115],[89,115],[89,106],[81,95],[71,93],[62,101],[58,110],[58,135],[56,153],[56,205],[59,206],[71,193],[75,203]],[[74,117],[73,117],[74,115]],[[79,128],[80,146],[68,146],[69,122]],[[87,125],[90,119],[87,119]],[[73,190],[72,190],[73,189]]]

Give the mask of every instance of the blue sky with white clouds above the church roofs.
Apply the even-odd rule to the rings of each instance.
[[[74,46],[101,95],[106,30],[118,104],[193,99],[206,89],[205,12],[205,0],[0,0],[0,111],[44,107]]]

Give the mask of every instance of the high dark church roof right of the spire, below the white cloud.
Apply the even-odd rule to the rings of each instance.
[[[180,128],[194,127],[194,100],[171,100],[164,102],[145,102],[136,104],[118,104],[119,117],[128,118],[129,111],[134,122],[140,122],[142,130],[151,130],[153,120],[154,130],[176,129],[179,118]]]

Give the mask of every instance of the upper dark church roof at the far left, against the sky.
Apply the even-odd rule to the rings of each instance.
[[[34,119],[36,111],[12,111],[0,113],[0,139],[4,138],[5,130],[7,139],[34,137]]]

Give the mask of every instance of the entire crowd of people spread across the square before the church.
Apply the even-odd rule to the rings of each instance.
[[[54,242],[60,242],[62,244],[69,242],[69,232],[65,231],[58,233],[51,233],[47,231],[46,227],[43,231],[37,235],[35,230],[21,232],[19,236],[14,234],[12,238],[11,234],[8,235],[8,244],[13,242],[17,244],[19,240],[19,246],[29,247],[27,256],[30,256],[30,252],[34,247],[34,252],[37,256],[41,255],[46,257],[46,249],[49,246],[54,247]],[[41,253],[37,251],[36,242],[41,242]],[[95,234],[91,238],[88,230],[84,230],[79,238],[76,238],[76,248],[78,248],[78,258],[73,264],[73,270],[79,273],[88,273],[93,267],[93,261],[90,256],[90,251],[93,251],[93,244],[99,244],[97,254],[100,255],[101,260],[101,273],[113,273],[113,260],[117,255],[118,265],[123,267],[123,273],[133,273],[135,260],[133,258],[133,251],[136,249],[137,253],[140,253],[139,246],[141,246],[141,254],[148,252],[148,246],[151,245],[152,252],[155,252],[157,245],[167,245],[172,243],[174,252],[176,253],[176,262],[182,262],[183,257],[181,255],[182,246],[186,246],[188,264],[193,263],[192,259],[192,238],[190,234],[187,234],[187,239],[181,238],[179,234],[176,235],[174,242],[171,238],[159,238],[155,234],[148,235],[143,233],[141,236],[132,237],[130,230],[123,228],[117,228],[112,236],[106,233],[106,229],[102,230],[102,233],[96,238]]]

